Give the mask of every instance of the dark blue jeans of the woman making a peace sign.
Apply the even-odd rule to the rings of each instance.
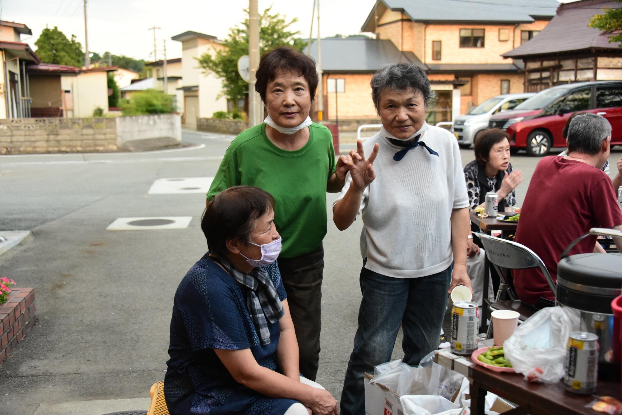
[[[363,299],[358,312],[354,349],[341,392],[342,415],[364,415],[364,373],[388,362],[402,323],[404,363],[416,366],[439,347],[453,264],[420,278],[392,278],[363,266]]]

